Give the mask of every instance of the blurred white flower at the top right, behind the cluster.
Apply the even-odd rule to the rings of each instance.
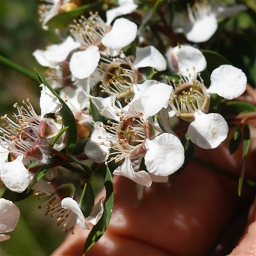
[[[192,7],[188,5],[189,20],[180,20],[179,15],[175,15],[173,26],[176,31],[183,31],[189,41],[201,43],[214,35],[218,28],[218,18],[230,17],[241,10],[246,10],[246,6],[243,4],[212,6],[207,2],[195,3]]]

